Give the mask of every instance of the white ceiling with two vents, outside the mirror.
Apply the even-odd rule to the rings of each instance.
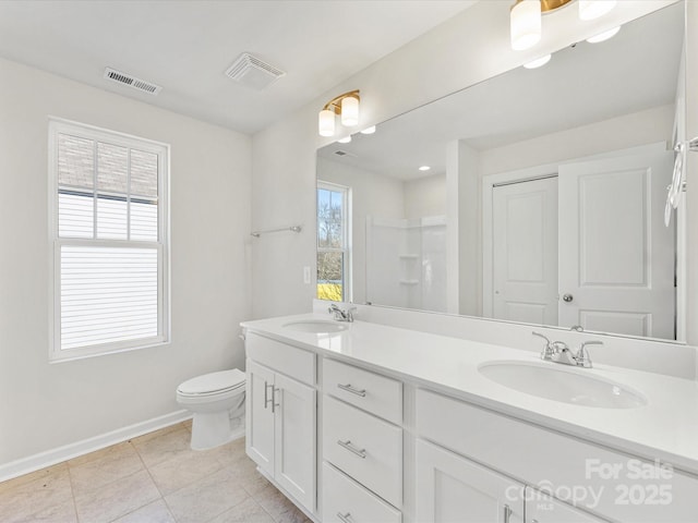
[[[467,0],[2,0],[0,57],[252,134],[476,3]],[[225,71],[250,52],[287,74]],[[105,68],[160,85],[105,80]]]

